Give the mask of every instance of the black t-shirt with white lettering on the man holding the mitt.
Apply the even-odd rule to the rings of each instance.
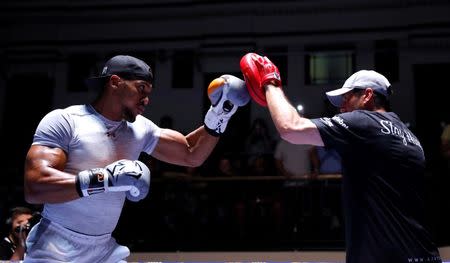
[[[425,156],[392,112],[313,119],[342,157],[348,263],[441,262],[424,227]]]

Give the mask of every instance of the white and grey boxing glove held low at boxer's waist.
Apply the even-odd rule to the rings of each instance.
[[[108,191],[126,192],[128,200],[137,202],[149,192],[150,170],[140,161],[123,159],[105,168],[81,171],[76,186],[82,197]]]

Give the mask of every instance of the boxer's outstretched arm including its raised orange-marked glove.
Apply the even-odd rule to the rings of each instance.
[[[211,107],[205,115],[204,125],[187,136],[163,129],[152,156],[172,164],[200,166],[211,154],[238,107],[250,101],[245,82],[232,75],[222,75],[211,81],[208,98]]]

